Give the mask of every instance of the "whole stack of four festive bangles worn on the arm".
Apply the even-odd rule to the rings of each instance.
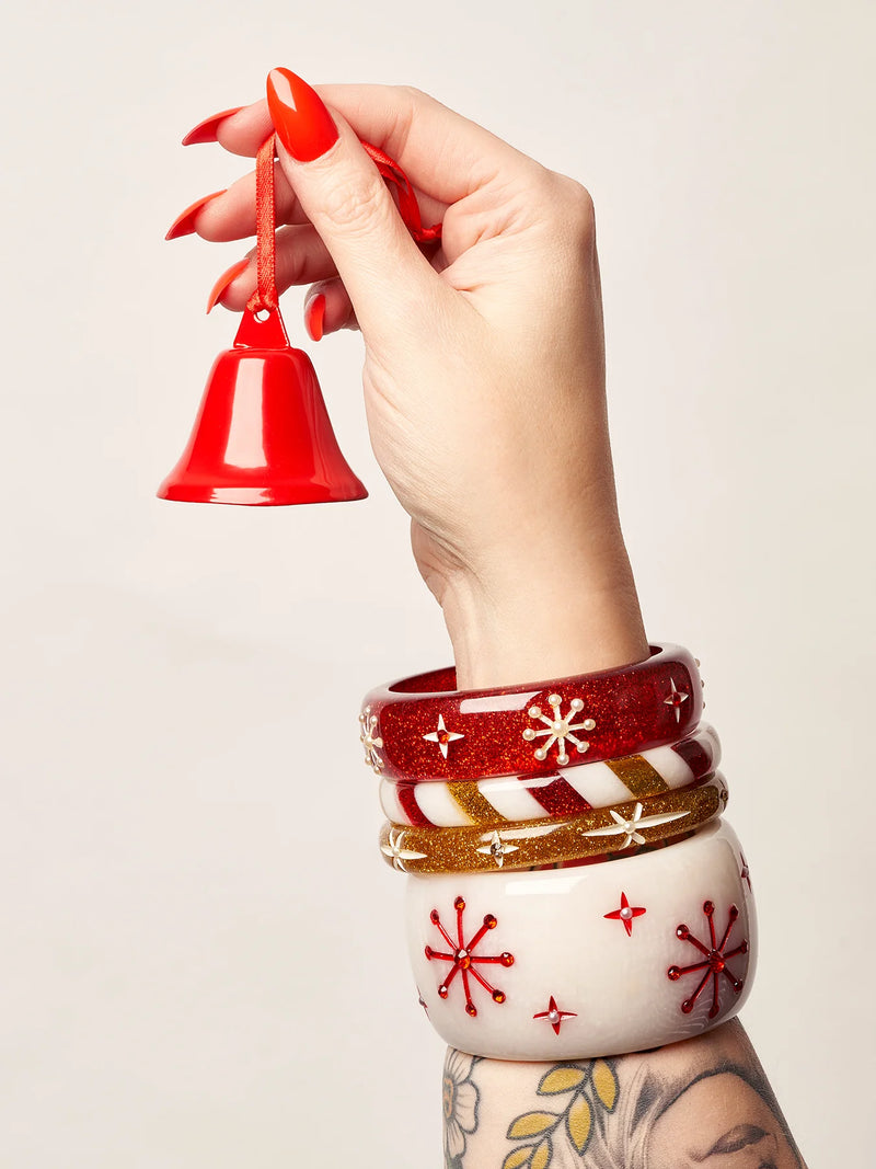
[[[367,696],[381,851],[409,874],[419,1001],[451,1046],[593,1059],[739,1010],[755,902],[702,685],[652,645],[529,686],[459,691],[447,669]]]

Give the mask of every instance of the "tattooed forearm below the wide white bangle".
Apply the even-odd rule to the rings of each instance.
[[[805,1169],[738,1021],[656,1051],[444,1071],[446,1169]]]

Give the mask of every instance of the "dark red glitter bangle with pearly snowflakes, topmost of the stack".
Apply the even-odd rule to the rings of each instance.
[[[456,671],[373,690],[359,717],[366,762],[385,779],[480,780],[640,754],[688,735],[702,714],[693,656],[652,645],[634,665],[573,678],[453,690]]]

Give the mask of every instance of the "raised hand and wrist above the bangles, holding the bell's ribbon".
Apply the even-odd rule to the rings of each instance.
[[[277,127],[278,288],[313,283],[306,314],[360,327],[377,461],[411,517],[460,685],[647,656],[617,516],[605,409],[593,208],[545,170],[424,94],[269,77],[217,140],[255,155]],[[324,104],[326,103],[326,104]],[[432,261],[360,138],[406,172]],[[190,219],[207,240],[255,234],[255,177]],[[231,270],[234,271],[234,270]],[[255,262],[221,286],[241,310]],[[319,297],[325,300],[320,302]]]

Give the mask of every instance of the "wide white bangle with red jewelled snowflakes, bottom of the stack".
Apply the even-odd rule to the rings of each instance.
[[[593,1059],[700,1035],[755,970],[748,866],[723,821],[583,869],[409,876],[420,1002],[452,1047]]]

